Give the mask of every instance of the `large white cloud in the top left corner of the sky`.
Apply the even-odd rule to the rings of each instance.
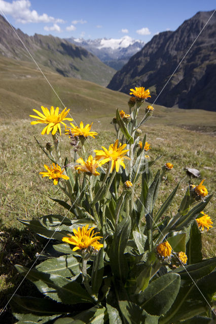
[[[0,0],[0,9],[5,15],[12,16],[17,22],[37,23],[37,22],[53,22],[64,23],[64,20],[48,16],[47,14],[39,15],[37,11],[30,10],[31,3],[29,0],[14,0],[12,3]]]

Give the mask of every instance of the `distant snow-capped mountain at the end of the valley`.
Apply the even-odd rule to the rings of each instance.
[[[96,55],[103,63],[115,70],[119,70],[125,65],[130,57],[140,51],[145,43],[129,36],[122,38],[67,38],[66,41],[77,46],[84,47],[87,51]]]

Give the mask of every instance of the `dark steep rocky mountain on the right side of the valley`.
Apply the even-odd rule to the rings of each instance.
[[[149,102],[159,96],[157,104],[166,107],[214,111],[216,14],[201,32],[212,13],[198,12],[175,31],[155,35],[114,75],[107,88],[129,94],[131,88],[143,86],[151,91]]]

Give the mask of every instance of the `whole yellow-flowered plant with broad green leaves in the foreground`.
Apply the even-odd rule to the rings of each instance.
[[[65,213],[19,220],[47,238],[43,251],[49,244],[41,263],[30,269],[16,265],[41,293],[11,298],[20,324],[205,324],[214,318],[216,258],[202,260],[201,252],[202,232],[212,227],[204,212],[211,198],[208,180],[189,184],[175,213],[170,205],[179,183],[157,203],[175,165],[166,161],[152,171],[160,157],[151,159],[151,143],[140,127],[153,106],[139,116],[150,91],[140,87],[130,95],[128,111],[117,109],[112,120],[116,138],[91,152],[88,143],[98,135],[92,124],[70,123],[66,108],[33,109],[31,124],[44,124],[42,135],[52,138],[46,146],[37,140],[47,156],[41,182],[63,191],[64,200],[52,199]],[[71,145],[67,158],[63,140]]]

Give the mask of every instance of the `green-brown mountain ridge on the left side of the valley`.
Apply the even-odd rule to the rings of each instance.
[[[52,35],[28,36],[15,29],[28,51],[39,65],[44,65],[63,76],[72,76],[107,86],[115,70],[102,63],[84,48]],[[32,61],[10,24],[0,15],[0,56]]]

